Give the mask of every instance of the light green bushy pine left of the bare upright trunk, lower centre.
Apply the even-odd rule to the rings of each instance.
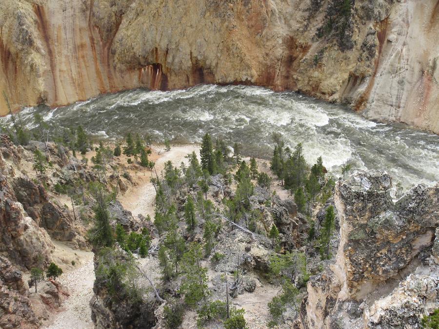
[[[188,251],[183,255],[184,277],[180,287],[180,292],[184,294],[184,301],[189,306],[197,305],[200,300],[210,294],[207,288],[207,268],[200,265],[201,259],[201,245],[192,242]]]

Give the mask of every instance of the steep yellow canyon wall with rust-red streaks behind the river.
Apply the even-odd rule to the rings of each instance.
[[[438,0],[4,0],[0,89],[17,110],[254,84],[438,133],[438,32]]]

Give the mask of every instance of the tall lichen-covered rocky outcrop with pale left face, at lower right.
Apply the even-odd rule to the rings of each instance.
[[[418,185],[396,203],[391,186],[382,171],[339,181],[339,249],[308,282],[301,327],[420,328],[438,308],[439,185]]]

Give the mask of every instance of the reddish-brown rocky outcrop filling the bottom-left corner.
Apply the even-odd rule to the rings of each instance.
[[[0,256],[0,328],[38,328],[22,276],[6,257]]]

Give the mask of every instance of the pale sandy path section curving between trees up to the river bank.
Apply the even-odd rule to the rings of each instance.
[[[157,174],[161,174],[164,164],[167,161],[172,161],[174,166],[180,167],[180,163],[187,164],[186,155],[195,152],[199,155],[198,145],[181,145],[173,146],[170,151],[165,152],[163,148],[154,147],[153,152],[159,154],[156,160],[155,170]],[[154,173],[154,170],[153,170]],[[133,177],[137,180],[137,177]],[[142,215],[150,215],[154,219],[154,201],[156,197],[156,191],[153,184],[150,182],[150,176],[140,180],[140,184],[130,188],[123,196],[119,198],[123,208],[129,210],[133,216],[137,216],[139,213]]]

